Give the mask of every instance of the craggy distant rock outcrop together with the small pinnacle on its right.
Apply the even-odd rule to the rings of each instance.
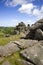
[[[20,33],[27,34],[29,29],[30,29],[30,25],[29,24],[28,24],[28,26],[26,26],[24,22],[20,22],[15,27],[14,34],[20,34]]]

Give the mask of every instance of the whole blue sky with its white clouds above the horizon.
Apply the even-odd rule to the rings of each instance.
[[[43,0],[0,0],[0,26],[33,24],[43,18]]]

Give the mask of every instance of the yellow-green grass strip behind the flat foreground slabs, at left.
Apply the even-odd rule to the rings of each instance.
[[[11,35],[10,37],[0,37],[0,45],[5,45],[10,41],[15,41],[20,39],[22,35]]]

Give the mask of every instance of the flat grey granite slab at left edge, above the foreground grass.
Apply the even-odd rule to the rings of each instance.
[[[0,46],[0,56],[7,57],[18,50],[19,50],[18,46],[10,42],[5,46]]]

